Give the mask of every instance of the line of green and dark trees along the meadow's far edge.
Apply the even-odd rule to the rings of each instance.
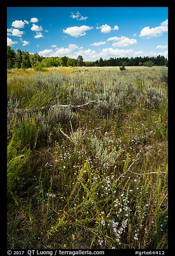
[[[33,67],[107,67],[107,66],[168,66],[168,61],[164,56],[144,56],[144,57],[123,57],[110,58],[96,61],[84,61],[81,55],[77,59],[63,57],[43,57],[38,53],[30,54],[17,49],[17,53],[11,46],[7,46],[7,68],[33,68]]]

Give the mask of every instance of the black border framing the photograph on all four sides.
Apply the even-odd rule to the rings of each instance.
[[[46,4],[47,3],[47,4]],[[88,3],[89,5],[86,5]],[[6,248],[7,248],[7,235],[6,235],[6,225],[7,225],[7,197],[6,197],[6,138],[7,138],[7,132],[6,132],[6,116],[7,116],[7,111],[6,111],[6,28],[7,28],[7,8],[8,7],[167,7],[168,8],[168,15],[169,15],[169,249],[164,250],[165,255],[172,255],[172,250],[173,250],[173,234],[172,232],[172,220],[173,220],[173,211],[172,211],[172,198],[173,198],[173,190],[172,190],[172,185],[173,185],[173,179],[172,179],[172,173],[173,173],[173,168],[172,168],[172,158],[173,158],[173,153],[172,153],[172,148],[173,148],[173,140],[172,140],[172,134],[173,134],[173,104],[171,102],[171,97],[173,96],[173,83],[171,82],[171,70],[173,69],[172,67],[172,54],[171,54],[171,49],[172,49],[172,42],[173,40],[170,40],[171,38],[171,29],[172,29],[172,15],[173,15],[173,8],[172,8],[172,0],[144,0],[144,1],[118,1],[116,2],[109,2],[107,1],[107,5],[103,5],[104,3],[99,6],[98,2],[97,3],[92,3],[91,2],[84,2],[84,5],[82,1],[74,3],[74,5],[71,5],[69,2],[67,3],[68,5],[61,5],[61,1],[59,3],[57,1],[42,1],[39,3],[39,1],[6,1],[6,2],[0,2],[0,20],[1,20],[1,40],[0,40],[0,45],[1,45],[1,55],[2,55],[2,65],[1,65],[1,160],[2,160],[2,165],[1,165],[1,174],[2,174],[2,179],[1,179],[1,184],[0,184],[0,193],[1,193],[1,211],[0,213],[2,214],[1,217],[1,248],[3,248],[4,254],[2,255],[7,255],[6,253]],[[172,80],[173,81],[173,80]],[[3,207],[2,207],[3,206]],[[14,250],[13,250],[14,251]],[[52,250],[50,250],[52,251]],[[54,251],[54,250],[53,250]],[[71,251],[71,250],[70,250]],[[105,255],[106,252],[114,252],[115,254],[120,252],[121,250],[118,249],[117,251],[111,251],[111,250],[104,250]],[[134,255],[136,250],[125,250],[127,255]],[[139,251],[159,251],[159,250],[139,250]],[[163,250],[161,250],[163,251]],[[129,254],[128,254],[129,252]],[[13,255],[13,254],[12,254]],[[27,255],[27,254],[26,254]]]

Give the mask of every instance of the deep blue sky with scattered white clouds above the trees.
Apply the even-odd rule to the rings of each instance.
[[[8,7],[7,44],[16,51],[84,61],[167,58],[167,7]]]

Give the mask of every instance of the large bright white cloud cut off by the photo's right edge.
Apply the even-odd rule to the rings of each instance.
[[[140,37],[143,37],[146,39],[161,37],[161,35],[163,35],[167,31],[168,31],[168,27],[167,27],[167,19],[166,19],[164,22],[161,23],[161,26],[152,27],[152,29],[150,29],[149,26],[144,27],[140,32]]]

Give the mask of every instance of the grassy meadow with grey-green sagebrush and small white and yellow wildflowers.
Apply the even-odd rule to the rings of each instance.
[[[12,69],[7,94],[8,248],[167,248],[167,67]]]

